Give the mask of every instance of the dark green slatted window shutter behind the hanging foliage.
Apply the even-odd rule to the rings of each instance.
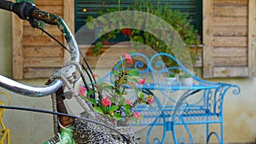
[[[158,0],[151,0],[153,3],[158,3]],[[122,0],[120,8],[126,9],[132,7],[135,2],[143,2],[143,0]],[[164,0],[161,4],[172,4],[173,9],[189,14],[192,24],[201,33],[201,0]],[[99,10],[117,8],[117,0],[75,0],[75,29],[79,30],[85,24],[85,20],[89,15],[97,17]],[[86,9],[86,11],[84,11]]]

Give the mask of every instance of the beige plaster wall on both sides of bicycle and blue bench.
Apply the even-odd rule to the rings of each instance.
[[[11,77],[11,22],[10,14],[0,10],[0,73]],[[43,85],[46,79],[23,80],[22,83]],[[255,141],[256,136],[256,79],[255,78],[225,78],[213,79],[224,83],[241,86],[240,95],[226,95],[224,101],[224,142],[245,143]],[[0,89],[2,91],[3,89]],[[26,98],[10,93],[13,106],[34,107],[51,110],[49,97]],[[3,97],[0,97],[3,99]],[[12,144],[43,143],[53,135],[52,117],[46,114],[8,110],[4,123],[11,130]],[[194,137],[204,136],[205,128],[197,128]],[[159,132],[157,134],[160,134]],[[138,135],[143,135],[139,133]],[[144,143],[144,142],[142,142]],[[204,143],[204,142],[202,142]]]

